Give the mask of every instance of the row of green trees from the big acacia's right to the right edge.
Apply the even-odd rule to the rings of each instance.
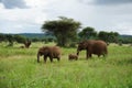
[[[108,44],[117,43],[122,44],[132,44],[132,35],[120,35],[118,32],[97,32],[94,28],[87,26],[78,33],[79,40],[103,40]]]

